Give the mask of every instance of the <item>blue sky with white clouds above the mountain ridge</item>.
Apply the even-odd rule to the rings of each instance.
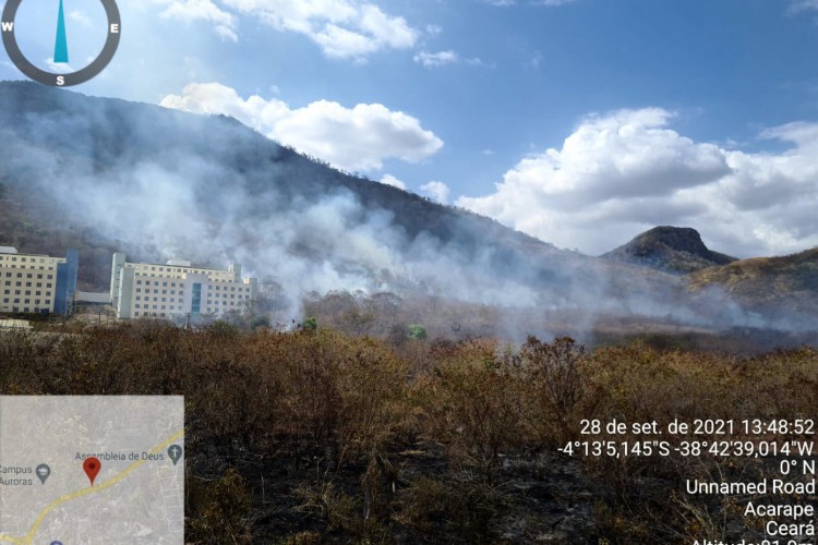
[[[50,71],[99,0],[24,0]],[[52,4],[52,5],[51,5]],[[818,0],[119,0],[73,87],[226,113],[375,183],[598,255],[659,225],[736,257],[818,245]],[[23,75],[0,51],[0,80]]]

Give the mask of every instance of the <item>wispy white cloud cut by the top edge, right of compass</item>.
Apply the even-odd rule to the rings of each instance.
[[[408,49],[414,46],[419,35],[404,17],[389,15],[373,3],[358,0],[222,2],[279,31],[303,34],[333,58],[363,60],[383,49]]]

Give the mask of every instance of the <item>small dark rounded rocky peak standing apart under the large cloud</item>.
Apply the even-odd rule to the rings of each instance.
[[[667,226],[654,227],[601,257],[674,275],[686,275],[736,261],[735,257],[709,250],[695,229]]]

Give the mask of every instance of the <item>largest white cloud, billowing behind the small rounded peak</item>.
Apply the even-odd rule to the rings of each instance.
[[[456,204],[591,254],[657,225],[694,227],[739,256],[818,244],[818,124],[766,131],[792,148],[747,154],[696,143],[669,129],[673,119],[659,108],[587,117],[560,149],[524,158],[494,193]]]

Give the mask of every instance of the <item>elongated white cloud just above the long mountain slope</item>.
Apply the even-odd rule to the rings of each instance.
[[[419,162],[443,147],[420,121],[380,104],[346,108],[318,100],[303,108],[253,95],[246,99],[218,83],[190,84],[161,106],[231,116],[256,131],[348,171],[373,171],[387,158]]]

